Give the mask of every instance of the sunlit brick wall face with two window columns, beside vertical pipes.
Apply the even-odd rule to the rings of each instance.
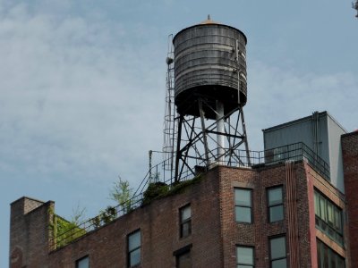
[[[255,247],[255,267],[269,267],[268,238],[286,235],[289,227],[287,216],[283,222],[268,222],[266,191],[269,187],[282,185],[284,211],[287,212],[286,167],[283,164],[257,170],[220,167],[220,207],[224,247],[224,267],[235,267],[235,245]],[[303,163],[295,163],[297,208],[299,219],[299,259],[302,268],[311,266],[310,215],[308,208],[307,178]],[[253,224],[237,223],[234,219],[234,187],[253,189]],[[287,253],[289,248],[287,248]],[[287,262],[289,262],[289,256]]]

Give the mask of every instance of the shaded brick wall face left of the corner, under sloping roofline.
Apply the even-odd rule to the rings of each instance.
[[[72,268],[90,255],[91,267],[126,267],[126,239],[141,229],[141,267],[175,267],[173,253],[192,245],[195,267],[222,267],[216,171],[183,193],[161,198],[111,222],[71,245],[52,252],[49,267]],[[192,206],[192,235],[179,238],[179,208]]]

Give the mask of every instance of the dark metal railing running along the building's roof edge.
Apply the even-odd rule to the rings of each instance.
[[[215,152],[210,152],[211,158],[209,159],[209,164],[223,164],[218,162],[217,155]],[[265,151],[250,151],[249,158],[245,150],[235,150],[235,157],[229,160],[226,160],[224,165],[226,166],[243,166],[243,167],[258,167],[260,165],[272,165],[277,163],[285,163],[286,161],[306,161],[309,163],[316,172],[319,172],[323,178],[330,180],[329,178],[329,166],[320,156],[316,155],[310,147],[307,147],[302,142],[294,143],[291,145],[276,147],[273,149],[268,149]],[[221,155],[220,155],[221,156]],[[224,155],[228,158],[228,155]],[[223,159],[223,158],[220,158]],[[55,250],[56,248],[64,247],[71,243],[72,241],[81,238],[92,230],[97,230],[101,226],[106,225],[109,222],[113,222],[115,219],[128,214],[132,210],[138,208],[143,204],[143,193],[148,188],[149,183],[153,182],[165,182],[166,185],[171,188],[174,185],[175,178],[174,172],[166,170],[168,166],[167,162],[172,161],[168,159],[162,163],[158,163],[151,167],[149,172],[145,175],[144,179],[141,181],[140,186],[134,192],[133,197],[124,202],[123,204],[116,205],[114,207],[107,207],[105,211],[101,214],[98,214],[96,217],[91,218],[86,222],[82,222],[78,226],[66,230],[62,233],[55,233],[53,238],[50,240],[50,249]],[[202,162],[199,166],[202,166],[205,170],[205,165]],[[182,172],[182,177],[180,181],[191,180],[195,174],[192,173],[190,169],[185,169]]]

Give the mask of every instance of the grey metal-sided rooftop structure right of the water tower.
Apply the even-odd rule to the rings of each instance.
[[[340,138],[346,130],[329,113],[315,112],[262,131],[265,150],[278,158],[286,154],[286,145],[303,142],[310,147],[315,155],[328,163],[331,183],[345,192]]]

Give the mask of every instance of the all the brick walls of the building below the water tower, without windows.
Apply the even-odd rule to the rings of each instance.
[[[175,267],[174,252],[188,245],[192,245],[192,263],[196,268],[235,267],[236,245],[255,247],[255,267],[267,268],[268,238],[281,234],[286,234],[287,262],[294,264],[288,253],[294,247],[292,243],[298,241],[298,250],[291,252],[298,255],[301,268],[313,268],[316,264],[313,187],[322,188],[322,192],[326,189],[334,192],[335,188],[307,163],[294,163],[294,169],[290,170],[294,180],[290,180],[289,185],[286,171],[285,164],[255,169],[218,166],[183,192],[135,209],[49,254],[48,211],[53,203],[43,205],[28,200],[27,207],[34,209],[23,214],[26,205],[19,201],[12,205],[11,248],[17,260],[22,258],[22,262],[17,261],[20,266],[13,262],[12,267],[26,264],[27,268],[74,268],[75,261],[85,255],[90,255],[91,267],[126,267],[127,235],[141,229],[141,267],[145,268]],[[284,190],[285,220],[270,223],[267,188],[278,185]],[[252,188],[252,224],[235,222],[234,188]],[[291,198],[287,203],[288,189],[291,193],[294,191],[295,200]],[[336,192],[330,198],[338,205],[343,203]],[[192,235],[180,239],[179,208],[189,203],[192,206]],[[297,223],[298,237],[288,239],[288,230],[294,223]]]

